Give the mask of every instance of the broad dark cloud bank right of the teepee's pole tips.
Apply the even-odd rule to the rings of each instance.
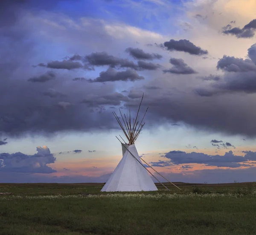
[[[134,98],[139,98],[142,92],[140,89],[133,89],[131,94]],[[127,108],[136,109],[137,105],[138,99],[125,102]],[[254,105],[253,94],[247,96],[240,93],[223,93],[219,96],[202,97],[192,92],[174,93],[171,89],[163,89],[159,93],[144,91],[142,103],[143,108],[149,106],[147,125],[161,123],[170,128],[172,123],[183,123],[197,130],[250,138],[256,136],[256,113],[252,108]]]

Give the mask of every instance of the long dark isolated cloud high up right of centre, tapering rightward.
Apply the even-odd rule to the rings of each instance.
[[[164,42],[163,45],[168,51],[183,51],[191,55],[208,54],[207,50],[203,50],[186,39],[181,39],[178,41],[171,39],[169,42]]]

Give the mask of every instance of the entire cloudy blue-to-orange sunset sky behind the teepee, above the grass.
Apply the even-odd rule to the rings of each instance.
[[[256,181],[254,9],[0,1],[0,182],[106,182],[125,137],[112,112],[136,115],[143,93],[137,151],[169,181]]]

